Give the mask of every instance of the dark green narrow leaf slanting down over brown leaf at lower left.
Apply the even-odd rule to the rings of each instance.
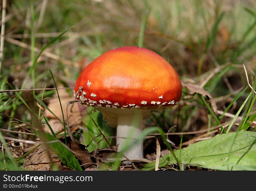
[[[34,133],[35,135],[40,137],[40,133],[38,131],[34,131]],[[42,132],[42,133],[46,141],[58,140],[49,133],[46,133],[46,132]],[[77,158],[63,144],[61,144],[60,142],[54,142],[54,143],[50,143],[49,146],[65,166],[75,170],[82,170]]]

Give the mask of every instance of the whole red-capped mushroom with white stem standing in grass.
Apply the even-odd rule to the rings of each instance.
[[[136,138],[150,110],[175,105],[182,85],[177,72],[157,53],[140,47],[107,51],[87,65],[77,78],[75,93],[83,104],[96,107],[111,126],[117,126],[118,151],[125,138]],[[124,153],[143,157],[143,140]]]

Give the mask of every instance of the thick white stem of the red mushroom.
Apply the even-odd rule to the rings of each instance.
[[[122,151],[127,145],[137,140],[138,135],[143,131],[142,112],[141,110],[132,110],[132,112],[118,115],[116,133],[116,144],[119,144],[118,151]],[[143,139],[137,141],[123,153],[127,158],[143,158]]]

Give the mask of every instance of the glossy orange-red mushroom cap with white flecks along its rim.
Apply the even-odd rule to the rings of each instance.
[[[158,108],[176,104],[182,85],[160,55],[140,47],[105,52],[87,65],[75,85],[77,99],[100,108]]]

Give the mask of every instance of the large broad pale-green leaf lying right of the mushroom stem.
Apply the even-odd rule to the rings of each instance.
[[[237,133],[237,137],[235,138]],[[235,142],[231,144],[235,138]],[[256,166],[256,132],[239,131],[216,135],[212,139],[190,144],[181,150],[180,161],[184,164],[203,166],[209,169],[231,170],[251,169]],[[180,150],[174,151],[179,156]],[[230,153],[229,153],[230,152]],[[230,155],[230,156],[229,156]],[[227,157],[230,157],[227,164]],[[176,163],[172,154],[160,158],[159,168]],[[228,166],[227,166],[228,165]],[[142,170],[153,170],[155,162],[145,165]]]

